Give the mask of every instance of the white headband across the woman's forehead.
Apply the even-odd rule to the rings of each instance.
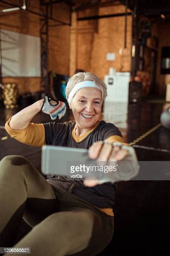
[[[76,93],[78,90],[80,90],[80,89],[82,89],[82,88],[84,88],[84,87],[95,87],[95,88],[99,89],[99,90],[102,92],[102,90],[100,89],[100,87],[99,87],[97,84],[95,85],[95,83],[94,83],[93,81],[83,81],[83,82],[79,82],[79,83],[77,83],[77,84],[72,88],[71,92],[69,93],[69,96],[68,96],[68,104],[69,104],[69,105],[70,105],[70,102],[71,102],[72,98],[74,97],[75,93]]]

